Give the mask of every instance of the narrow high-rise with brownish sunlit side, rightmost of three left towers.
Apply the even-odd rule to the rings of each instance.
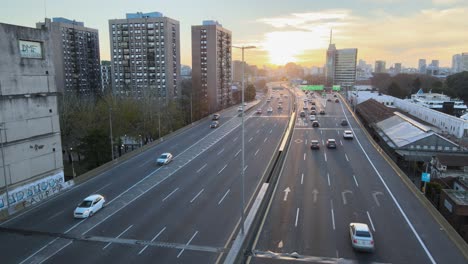
[[[192,84],[201,116],[232,104],[231,45],[231,31],[217,21],[192,26]]]

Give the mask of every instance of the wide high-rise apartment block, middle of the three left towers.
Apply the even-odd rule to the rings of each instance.
[[[159,12],[126,14],[109,20],[109,36],[115,95],[163,103],[179,96],[179,21]]]

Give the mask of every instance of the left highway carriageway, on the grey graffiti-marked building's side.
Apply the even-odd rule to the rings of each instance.
[[[291,113],[291,96],[278,99],[279,92],[274,95],[271,103],[265,98],[259,103],[262,114],[246,114],[247,207]],[[283,111],[277,110],[280,100]],[[273,113],[268,114],[270,105]],[[240,120],[237,107],[222,111],[220,127],[210,129],[211,120],[204,120],[1,223],[2,263],[221,260],[241,215]],[[155,159],[163,152],[175,158],[158,167]],[[106,197],[106,207],[89,219],[74,219],[76,205],[93,193]]]

